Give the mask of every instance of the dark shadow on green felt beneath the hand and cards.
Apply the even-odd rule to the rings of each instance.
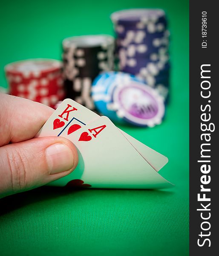
[[[129,200],[130,197],[145,197],[145,201],[151,198],[167,198],[175,193],[165,190],[150,190],[150,189],[72,189],[68,187],[55,187],[55,186],[42,186],[26,192],[14,194],[0,199],[0,215],[22,208],[29,204],[36,204],[40,201],[50,201],[54,199],[74,201],[78,197],[91,197],[95,196],[95,200],[108,201],[109,204],[113,203],[113,198],[122,198]]]

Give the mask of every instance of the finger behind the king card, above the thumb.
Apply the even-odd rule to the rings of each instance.
[[[33,138],[53,109],[29,99],[0,93],[0,146]]]

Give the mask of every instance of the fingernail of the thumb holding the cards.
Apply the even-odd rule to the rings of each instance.
[[[72,169],[74,159],[70,148],[62,143],[56,143],[46,148],[46,159],[50,174]]]

